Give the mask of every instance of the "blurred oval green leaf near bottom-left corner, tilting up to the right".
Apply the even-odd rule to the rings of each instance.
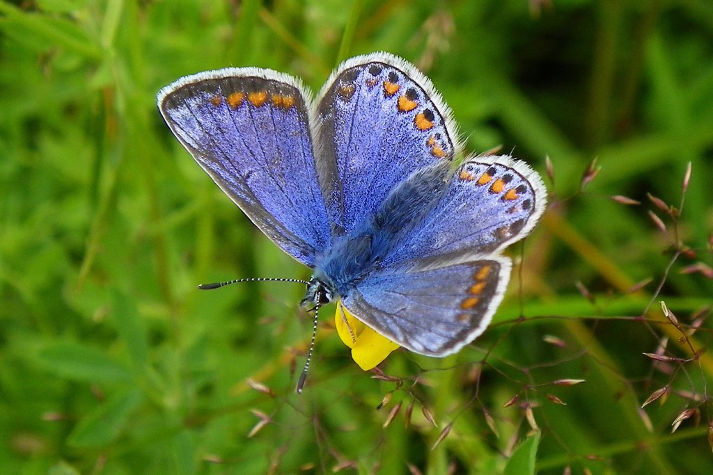
[[[140,390],[114,395],[83,417],[67,439],[73,447],[101,447],[115,439],[133,410],[143,400]]]

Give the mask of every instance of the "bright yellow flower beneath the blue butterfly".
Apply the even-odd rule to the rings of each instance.
[[[389,353],[399,348],[399,345],[385,336],[379,335],[375,330],[364,325],[346,307],[342,301],[337,302],[337,314],[334,315],[337,333],[342,338],[344,345],[352,348],[352,359],[362,370],[371,370],[372,367],[384,361]]]

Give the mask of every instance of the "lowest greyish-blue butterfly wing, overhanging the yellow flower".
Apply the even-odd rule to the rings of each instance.
[[[415,353],[446,356],[483,333],[508,285],[501,256],[440,268],[396,266],[342,299],[356,318]]]

